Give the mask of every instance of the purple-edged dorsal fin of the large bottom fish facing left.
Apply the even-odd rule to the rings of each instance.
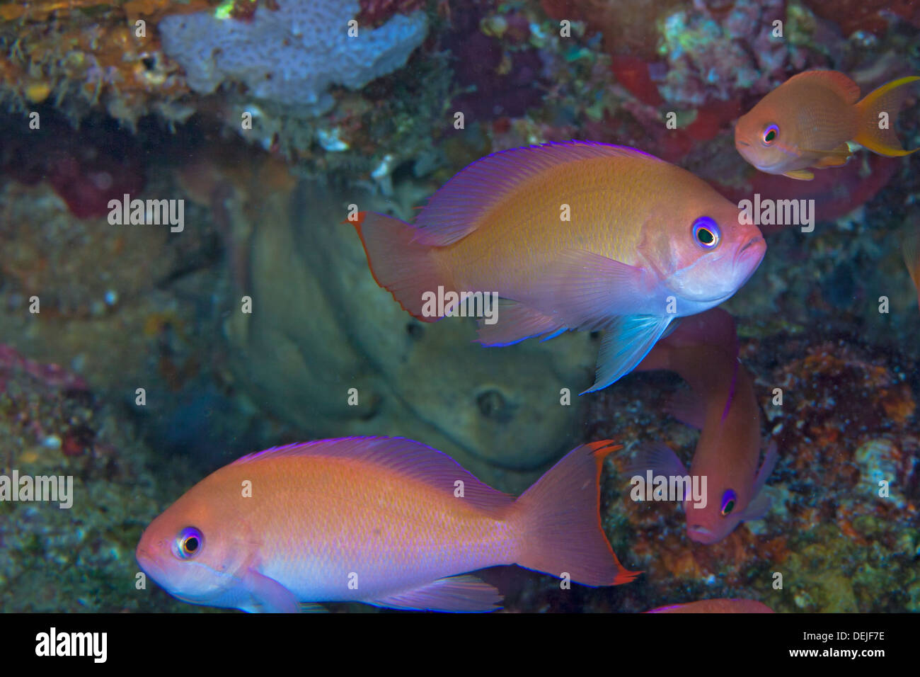
[[[313,442],[289,444],[248,454],[230,463],[258,463],[281,458],[311,456],[315,458],[339,458],[361,461],[368,465],[368,472],[374,467],[385,468],[407,479],[443,490],[454,495],[457,480],[463,482],[463,499],[471,505],[487,511],[496,517],[510,507],[514,496],[502,494],[489,484],[480,482],[450,456],[431,447],[406,438],[333,438],[317,439]]]

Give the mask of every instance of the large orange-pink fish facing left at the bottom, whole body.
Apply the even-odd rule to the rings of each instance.
[[[464,574],[496,565],[627,583],[638,573],[617,561],[599,515],[615,449],[572,449],[516,500],[409,439],[268,449],[195,484],[147,527],[137,561],[180,600],[247,612],[316,601],[488,612],[498,590]]]

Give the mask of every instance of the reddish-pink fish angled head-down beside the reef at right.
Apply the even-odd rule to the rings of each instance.
[[[771,444],[757,470],[760,406],[751,375],[738,360],[738,338],[729,313],[710,309],[685,319],[638,369],[676,371],[692,394],[675,399],[672,413],[701,432],[689,472],[663,444],[641,449],[631,470],[707,478],[705,507],[684,500],[687,535],[697,543],[717,543],[743,520],[762,518],[770,508],[763,489],[778,456]]]

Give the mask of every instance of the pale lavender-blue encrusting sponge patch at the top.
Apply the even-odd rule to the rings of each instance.
[[[422,12],[397,15],[377,29],[349,21],[358,2],[277,0],[246,21],[210,12],[159,22],[163,51],[180,64],[190,88],[210,94],[224,81],[245,84],[256,99],[297,109],[328,111],[332,84],[360,89],[406,63],[425,38]]]

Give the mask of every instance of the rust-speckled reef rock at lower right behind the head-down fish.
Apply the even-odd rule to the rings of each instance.
[[[628,500],[628,454],[608,465],[614,471],[606,484],[608,532],[619,539],[614,547],[634,558],[628,566],[648,577],[636,589],[617,591],[618,611],[723,594],[753,596],[780,612],[917,611],[907,588],[917,582],[920,546],[918,384],[903,378],[915,371],[866,362],[850,343],[819,343],[798,358],[808,342],[779,334],[742,343],[782,455],[769,481],[773,508],[765,520],[742,524],[715,545],[692,543],[679,509]],[[692,449],[692,435],[676,423],[662,425],[656,414],[675,382],[631,376],[627,389],[592,403],[588,425],[601,438],[646,440],[663,432],[677,447]],[[784,391],[781,406],[772,403],[774,387]],[[879,495],[880,479],[891,483],[887,496]],[[782,589],[773,587],[776,572]]]

